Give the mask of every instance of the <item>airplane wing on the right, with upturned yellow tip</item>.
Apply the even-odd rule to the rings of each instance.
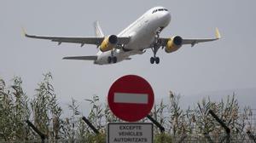
[[[190,39],[183,39],[183,43],[182,44],[191,44],[191,47],[193,47],[196,43],[206,43],[206,42],[210,42],[210,41],[215,41],[218,40],[220,38],[220,34],[218,31],[218,28],[216,28],[215,30],[215,38],[190,38]],[[161,44],[162,46],[166,46],[168,40],[170,40],[170,38],[160,38],[161,40]]]

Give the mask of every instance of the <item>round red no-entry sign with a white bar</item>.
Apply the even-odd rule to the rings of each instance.
[[[120,77],[108,91],[110,110],[116,117],[128,122],[136,122],[146,117],[153,104],[153,89],[143,77]]]

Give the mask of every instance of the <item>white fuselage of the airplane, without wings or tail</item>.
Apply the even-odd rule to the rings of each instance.
[[[163,7],[154,7],[149,9],[140,18],[134,21],[130,26],[121,31],[118,37],[131,37],[124,49],[113,49],[107,52],[99,51],[95,64],[106,65],[109,56],[116,56],[117,62],[126,60],[134,54],[143,54],[155,42],[156,32],[165,28],[171,21],[171,14],[165,9],[154,12],[155,9],[165,9]]]

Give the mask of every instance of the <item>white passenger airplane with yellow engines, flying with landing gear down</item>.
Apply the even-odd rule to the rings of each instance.
[[[24,35],[30,38],[46,39],[58,43],[79,43],[95,44],[98,52],[90,56],[68,56],[64,60],[93,60],[96,65],[114,64],[123,60],[131,60],[131,55],[143,54],[147,49],[152,49],[153,56],[150,58],[151,64],[159,64],[160,58],[156,56],[159,49],[165,49],[166,53],[172,53],[180,49],[183,44],[215,41],[220,38],[218,28],[215,30],[214,38],[183,38],[180,36],[160,37],[160,32],[169,25],[171,14],[168,9],[158,6],[149,9],[145,14],[126,27],[118,35],[105,36],[98,21],[94,24],[95,37],[44,37]]]

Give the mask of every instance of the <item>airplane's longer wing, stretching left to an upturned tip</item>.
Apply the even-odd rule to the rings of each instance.
[[[23,33],[25,37],[30,38],[37,38],[37,39],[45,39],[45,40],[51,40],[52,42],[57,42],[58,44],[61,43],[80,43],[81,47],[84,46],[84,44],[95,44],[99,46],[102,41],[104,40],[104,37],[48,37],[48,36],[36,36],[36,35],[29,35],[26,33],[26,31],[23,30]],[[130,41],[130,37],[118,37],[118,44],[127,44]]]

